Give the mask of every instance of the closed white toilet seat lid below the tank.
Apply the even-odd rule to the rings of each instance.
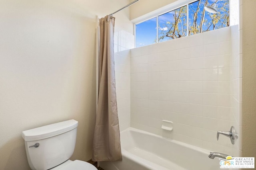
[[[66,164],[62,167],[55,167],[54,170],[97,170],[95,166],[88,162],[84,162],[82,160],[74,160],[70,161],[70,163]],[[51,169],[52,170],[52,169]]]

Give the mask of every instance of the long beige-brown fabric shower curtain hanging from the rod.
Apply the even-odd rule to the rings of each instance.
[[[99,93],[93,161],[122,160],[116,104],[114,21],[112,16],[100,19]]]

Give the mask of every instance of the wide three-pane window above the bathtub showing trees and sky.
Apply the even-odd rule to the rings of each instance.
[[[198,0],[136,26],[136,47],[229,26],[229,0]]]

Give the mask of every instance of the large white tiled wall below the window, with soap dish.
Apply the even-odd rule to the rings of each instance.
[[[231,154],[231,46],[226,27],[131,49],[131,127]]]

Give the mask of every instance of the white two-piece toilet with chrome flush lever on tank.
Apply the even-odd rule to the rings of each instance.
[[[97,170],[81,160],[69,160],[76,145],[78,121],[71,119],[22,132],[32,170]]]

